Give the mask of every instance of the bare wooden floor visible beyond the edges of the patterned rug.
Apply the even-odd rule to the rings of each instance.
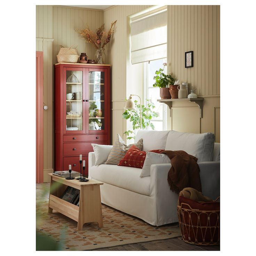
[[[49,196],[50,184],[36,184],[37,200],[42,200]],[[166,240],[157,240],[145,243],[133,243],[129,245],[121,245],[115,247],[95,249],[93,251],[219,251],[220,246],[196,246],[190,245],[182,240],[181,237],[170,238]]]

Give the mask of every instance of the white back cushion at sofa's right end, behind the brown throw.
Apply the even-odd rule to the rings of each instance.
[[[197,162],[212,161],[215,135],[213,133],[181,133],[170,131],[165,150],[184,150],[198,158]]]

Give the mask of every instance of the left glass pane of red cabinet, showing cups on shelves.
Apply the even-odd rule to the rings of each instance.
[[[66,131],[83,130],[83,72],[66,70]],[[71,133],[72,133],[71,132]]]

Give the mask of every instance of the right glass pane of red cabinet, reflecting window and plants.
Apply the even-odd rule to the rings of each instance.
[[[105,72],[89,70],[89,132],[105,130]]]

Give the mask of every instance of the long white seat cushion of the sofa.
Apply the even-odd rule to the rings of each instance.
[[[90,168],[90,176],[97,179],[97,181],[122,187],[139,194],[149,195],[150,176],[140,178],[140,174],[141,169],[126,166],[98,165]]]

